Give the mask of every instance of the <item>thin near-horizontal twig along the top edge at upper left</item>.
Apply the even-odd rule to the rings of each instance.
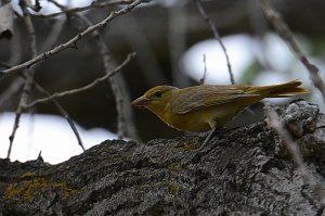
[[[104,9],[104,8],[112,7],[112,5],[117,5],[117,4],[119,4],[119,5],[130,4],[130,3],[134,2],[134,0],[116,0],[116,1],[107,1],[107,2],[93,1],[92,3],[90,3],[89,5],[86,5],[86,7],[77,7],[77,8],[67,9],[66,7],[60,4],[55,1],[52,1],[52,0],[49,0],[49,1],[54,3],[58,8],[65,8],[65,9],[57,12],[57,13],[34,14],[32,16],[40,17],[40,18],[50,18],[50,17],[55,17],[55,16],[58,16],[58,15],[63,15],[63,14],[78,13],[78,12],[82,12],[82,11],[87,11],[87,10],[91,10],[91,9]],[[142,2],[150,2],[150,0],[142,1]]]

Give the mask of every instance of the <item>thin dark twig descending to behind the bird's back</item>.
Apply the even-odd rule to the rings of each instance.
[[[208,23],[208,25],[210,26],[212,33],[213,33],[213,36],[214,38],[219,41],[223,52],[224,52],[224,56],[225,56],[225,60],[226,60],[226,65],[227,65],[227,71],[229,71],[229,76],[230,76],[230,79],[231,79],[231,82],[234,85],[235,84],[235,78],[234,78],[234,74],[233,74],[233,71],[232,71],[232,65],[230,63],[230,59],[229,59],[229,55],[227,55],[227,52],[226,52],[226,49],[225,49],[225,46],[223,45],[222,40],[221,40],[221,37],[217,30],[217,27],[216,25],[212,23],[212,21],[209,18],[209,16],[207,15],[206,11],[204,10],[204,8],[202,7],[200,4],[200,0],[193,0],[196,4],[196,8],[198,9],[200,15],[203,16],[203,18]]]

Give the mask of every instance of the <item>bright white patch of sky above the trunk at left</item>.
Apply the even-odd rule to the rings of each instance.
[[[6,157],[14,117],[14,113],[1,113],[0,115],[0,157],[2,158]],[[117,138],[113,132],[102,128],[86,130],[77,125],[77,129],[86,149],[100,144],[104,140]],[[51,164],[64,162],[82,153],[82,149],[65,118],[55,115],[24,114],[10,158],[20,162],[36,160],[40,151],[43,160]]]

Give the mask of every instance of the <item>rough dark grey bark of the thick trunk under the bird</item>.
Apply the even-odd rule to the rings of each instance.
[[[274,106],[324,185],[325,116]],[[0,215],[322,215],[266,119],[217,135],[107,140],[58,165],[0,161]]]

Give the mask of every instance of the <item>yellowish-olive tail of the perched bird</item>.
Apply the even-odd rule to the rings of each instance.
[[[280,85],[258,87],[258,94],[264,94],[265,98],[286,98],[291,96],[301,96],[309,93],[308,89],[300,87],[301,80],[296,79]]]

